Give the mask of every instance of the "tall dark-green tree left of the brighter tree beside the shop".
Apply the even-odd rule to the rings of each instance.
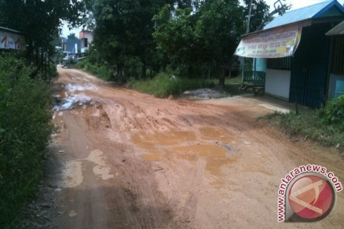
[[[146,78],[147,66],[157,62],[152,57],[159,56],[152,37],[152,18],[165,3],[164,0],[95,0],[94,42],[104,59],[115,62],[120,69],[125,63],[136,62],[135,66],[141,65],[141,77]],[[185,5],[184,1],[177,3]]]

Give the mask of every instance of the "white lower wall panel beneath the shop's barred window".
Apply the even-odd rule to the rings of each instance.
[[[265,92],[289,99],[290,73],[288,70],[266,69]]]

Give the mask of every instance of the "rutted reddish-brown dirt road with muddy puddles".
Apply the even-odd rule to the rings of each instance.
[[[259,104],[157,99],[58,72],[55,93],[69,100],[55,107],[51,146],[57,228],[344,228],[343,192],[322,221],[277,223],[281,178],[315,163],[343,182],[343,160],[257,121],[269,112]]]

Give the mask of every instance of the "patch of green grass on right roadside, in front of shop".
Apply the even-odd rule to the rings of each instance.
[[[343,126],[326,123],[319,117],[318,111],[310,111],[296,115],[294,112],[283,114],[275,112],[268,114],[265,119],[273,125],[282,127],[290,135],[303,135],[320,142],[325,146],[344,146]]]

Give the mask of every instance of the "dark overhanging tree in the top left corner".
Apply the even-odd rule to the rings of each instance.
[[[82,23],[84,3],[78,0],[1,0],[0,25],[25,33],[28,56],[39,48],[52,52],[52,42],[68,27]]]

